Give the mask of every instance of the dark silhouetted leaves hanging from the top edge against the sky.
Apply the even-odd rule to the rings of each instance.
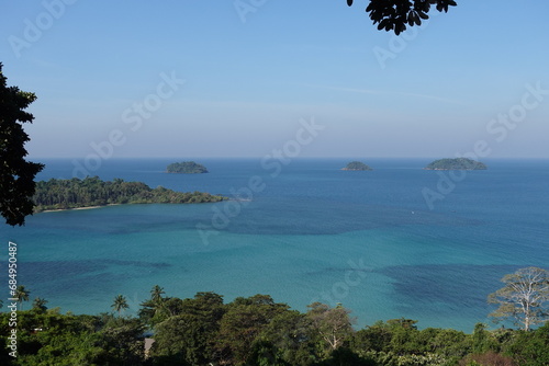
[[[352,5],[352,0],[347,4]],[[453,0],[370,0],[366,12],[370,14],[378,30],[394,31],[396,35],[410,26],[421,25],[422,19],[429,19],[430,5],[436,5],[439,12],[448,12],[449,7],[456,7]]]

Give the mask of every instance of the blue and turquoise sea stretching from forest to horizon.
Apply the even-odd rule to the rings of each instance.
[[[36,159],[33,159],[33,161]],[[355,328],[417,320],[471,332],[493,324],[489,294],[505,274],[549,266],[549,160],[493,159],[484,171],[428,171],[432,159],[195,159],[206,174],[168,174],[188,159],[44,159],[37,180],[98,175],[222,194],[215,204],[117,205],[35,214],[0,225],[18,284],[61,312],[135,314],[155,285],[167,296],[255,294],[306,311],[351,310]],[[354,160],[354,159],[352,159]],[[89,169],[82,169],[88,167]]]

